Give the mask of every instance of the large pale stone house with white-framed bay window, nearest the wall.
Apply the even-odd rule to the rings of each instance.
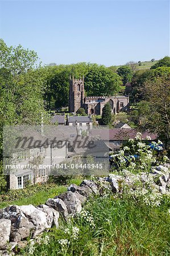
[[[68,139],[64,133],[59,133],[54,127],[52,130],[48,127],[46,135],[31,129],[22,133],[13,154],[3,158],[9,189],[23,188],[28,183],[45,183],[53,167],[68,157]]]

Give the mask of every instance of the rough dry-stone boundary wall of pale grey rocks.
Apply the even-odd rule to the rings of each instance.
[[[169,167],[170,164],[157,166],[150,174],[140,172],[135,175],[126,171],[124,176],[110,174],[108,177],[98,177],[96,181],[84,180],[80,186],[72,184],[67,192],[37,207],[31,204],[10,205],[0,209],[0,255],[8,255],[9,246],[13,250],[16,245],[23,246],[26,238],[35,238],[52,226],[58,227],[59,217],[67,221],[70,214],[80,213],[82,205],[90,196],[103,196],[108,191],[121,193],[122,182],[130,186],[138,180],[144,183],[156,177],[155,188],[160,193],[166,193],[170,185]]]

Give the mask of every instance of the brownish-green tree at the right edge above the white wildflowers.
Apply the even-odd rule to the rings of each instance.
[[[143,94],[144,101],[138,105],[141,126],[157,133],[167,148],[170,141],[170,76],[147,81]]]

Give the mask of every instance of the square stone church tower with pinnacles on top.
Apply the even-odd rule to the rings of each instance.
[[[84,77],[69,79],[69,112],[77,112],[84,106]]]

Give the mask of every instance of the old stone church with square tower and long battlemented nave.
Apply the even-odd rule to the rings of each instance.
[[[103,106],[109,102],[111,112],[116,114],[120,110],[127,111],[129,108],[128,96],[91,96],[85,97],[84,77],[82,79],[69,79],[69,112],[77,112],[84,108],[86,114],[101,115]]]

